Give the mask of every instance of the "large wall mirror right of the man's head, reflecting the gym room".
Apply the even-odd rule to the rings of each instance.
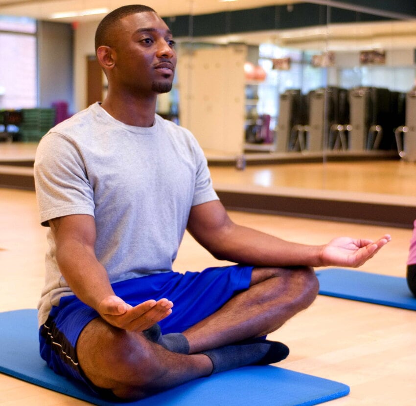
[[[413,22],[312,3],[232,10],[188,16],[189,35],[179,37],[181,19],[167,21],[179,65],[177,93],[165,106],[208,160],[244,167],[244,153],[246,161],[291,162],[278,174],[246,166],[264,187],[408,194],[394,173],[386,184],[377,172],[405,168],[396,165],[397,142],[403,150],[409,131]],[[242,33],[249,22],[259,29]],[[357,170],[368,173],[366,185]],[[234,171],[229,181],[238,178],[245,175]],[[224,172],[221,181],[228,183]]]

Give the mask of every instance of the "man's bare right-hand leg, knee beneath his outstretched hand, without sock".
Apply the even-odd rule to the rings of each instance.
[[[254,268],[249,289],[183,332],[189,353],[271,333],[306,309],[318,289],[315,272],[309,267]]]

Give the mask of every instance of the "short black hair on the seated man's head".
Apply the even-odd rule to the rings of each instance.
[[[97,30],[95,31],[95,52],[101,45],[110,46],[110,40],[112,35],[112,29],[116,23],[124,17],[130,14],[136,13],[156,13],[153,8],[142,5],[142,4],[131,4],[127,6],[118,7],[111,13],[107,14],[101,22],[98,24]]]

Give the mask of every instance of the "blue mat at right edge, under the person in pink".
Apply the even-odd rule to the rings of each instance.
[[[343,268],[329,268],[316,274],[321,295],[416,310],[416,298],[406,278]]]

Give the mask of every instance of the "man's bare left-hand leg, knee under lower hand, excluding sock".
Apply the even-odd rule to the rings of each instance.
[[[92,384],[123,399],[140,399],[212,371],[204,354],[168,351],[142,333],[118,329],[101,318],[87,324],[76,350],[81,369]]]

